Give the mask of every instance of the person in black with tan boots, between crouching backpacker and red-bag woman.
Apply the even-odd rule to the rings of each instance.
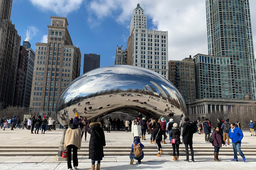
[[[157,156],[160,156],[161,153],[163,153],[161,141],[163,139],[163,130],[161,128],[161,125],[159,122],[157,122],[157,125],[153,131],[153,141],[155,144],[157,144]]]

